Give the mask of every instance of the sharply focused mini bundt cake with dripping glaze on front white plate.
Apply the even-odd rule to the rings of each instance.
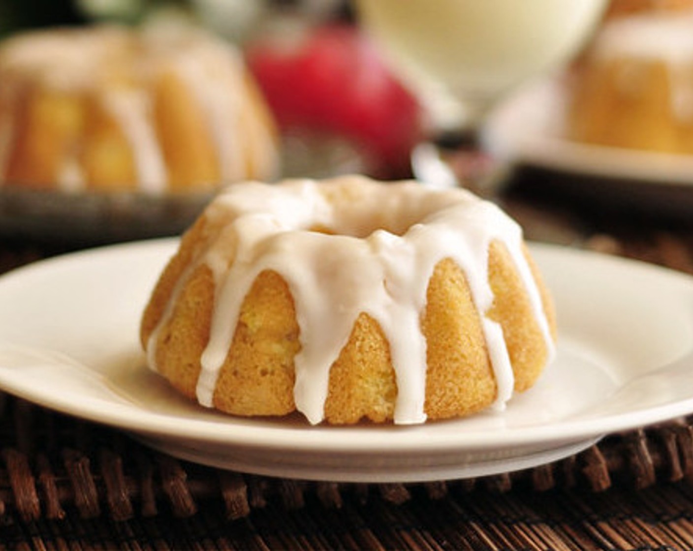
[[[520,227],[462,189],[360,176],[228,186],[141,322],[202,405],[310,423],[421,423],[502,405],[554,350]]]

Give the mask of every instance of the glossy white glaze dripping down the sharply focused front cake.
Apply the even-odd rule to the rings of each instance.
[[[204,216],[224,229],[177,286],[180,290],[200,263],[211,268],[216,281],[211,336],[197,388],[202,405],[212,405],[240,306],[265,270],[285,279],[295,302],[301,342],[295,357],[295,403],[311,423],[323,419],[330,367],[360,313],[373,317],[389,342],[398,388],[394,421],[425,421],[426,340],[420,317],[428,282],[439,261],[453,259],[478,311],[486,313],[493,303],[488,255],[495,240],[507,247],[552,354],[549,324],[523,255],[520,227],[495,205],[461,189],[378,184],[355,176],[321,183],[247,183],[230,186]],[[482,315],[482,327],[498,385],[497,404],[502,405],[514,386],[507,347],[496,322]],[[148,342],[150,362],[158,333]]]

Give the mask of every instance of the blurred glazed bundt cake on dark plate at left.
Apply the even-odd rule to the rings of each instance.
[[[0,46],[0,184],[209,189],[277,170],[240,53],[193,28],[32,31]]]

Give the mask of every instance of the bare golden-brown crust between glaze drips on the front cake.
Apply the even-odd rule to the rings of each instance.
[[[224,231],[218,220],[202,216],[182,239],[143,315],[143,347],[155,347],[159,372],[187,396],[195,396],[200,358],[209,340],[216,293],[212,271],[195,259]],[[234,246],[229,247],[233,264]],[[556,322],[550,295],[529,257],[523,256],[537,282],[550,331]],[[525,283],[505,245],[489,247],[488,273],[495,294],[489,317],[502,326],[514,370],[515,390],[531,387],[550,350],[529,303]],[[173,311],[165,315],[172,297]],[[218,307],[218,306],[217,306]],[[157,326],[163,321],[163,325]],[[421,313],[426,338],[428,419],[460,417],[487,408],[498,394],[481,315],[462,268],[441,259],[430,277]],[[285,415],[295,410],[295,356],[301,329],[294,297],[278,272],[264,270],[243,299],[229,352],[220,367],[213,406],[241,416]],[[150,342],[150,339],[155,342]],[[380,324],[358,315],[351,334],[329,370],[324,419],[333,424],[376,423],[394,418],[398,385],[389,342]]]

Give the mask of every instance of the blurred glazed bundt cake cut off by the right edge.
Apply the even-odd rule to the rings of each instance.
[[[566,98],[568,139],[693,154],[693,11],[608,19],[570,75]]]

